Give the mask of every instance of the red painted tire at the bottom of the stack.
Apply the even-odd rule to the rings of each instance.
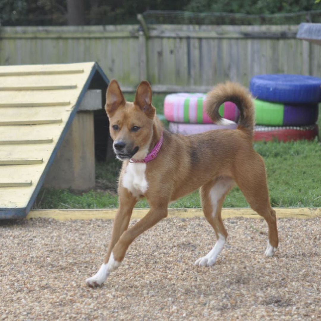
[[[298,127],[270,127],[255,126],[254,141],[272,141],[274,139],[280,142],[289,142],[296,140],[313,140],[318,136],[319,129],[317,124],[311,126]]]

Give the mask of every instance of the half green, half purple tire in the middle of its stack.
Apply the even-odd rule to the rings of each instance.
[[[255,122],[269,126],[304,126],[317,122],[318,104],[283,104],[254,100]]]

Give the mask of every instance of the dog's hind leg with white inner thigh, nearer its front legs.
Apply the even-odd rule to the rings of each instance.
[[[226,194],[233,187],[234,180],[231,178],[218,178],[209,184],[200,188],[200,196],[202,208],[206,220],[212,225],[215,235],[216,243],[212,250],[204,257],[200,257],[195,265],[211,266],[215,263],[217,256],[221,253],[227,238],[227,232],[224,228],[221,218],[222,205]]]

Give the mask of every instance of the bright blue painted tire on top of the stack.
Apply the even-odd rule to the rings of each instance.
[[[250,92],[260,100],[313,104],[321,101],[321,78],[291,75],[264,74],[252,77]]]

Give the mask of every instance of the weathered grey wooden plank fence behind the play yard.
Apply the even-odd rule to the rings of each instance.
[[[144,30],[144,31],[143,31]],[[139,25],[0,27],[0,64],[97,61],[133,91],[207,91],[264,73],[321,76],[321,46],[296,39],[298,26]]]

